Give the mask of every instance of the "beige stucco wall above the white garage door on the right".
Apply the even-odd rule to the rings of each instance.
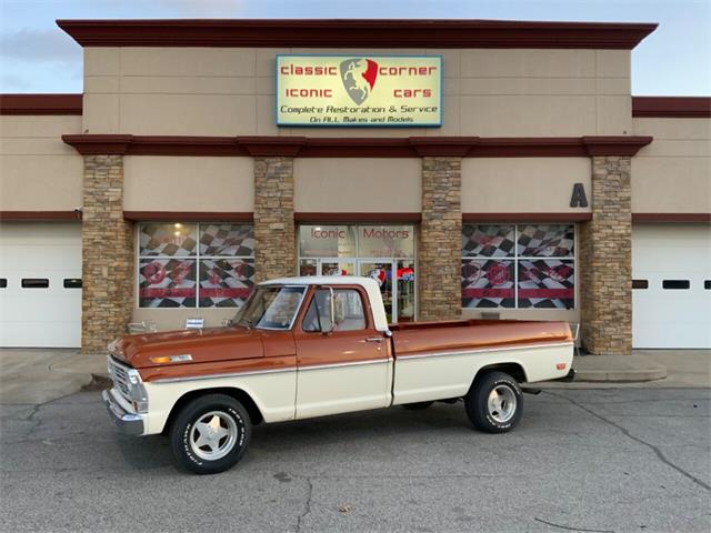
[[[711,119],[634,119],[634,133],[654,141],[632,159],[632,212],[711,212]]]

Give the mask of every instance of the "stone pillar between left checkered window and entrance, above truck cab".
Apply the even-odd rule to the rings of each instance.
[[[293,158],[254,158],[257,281],[294,275]]]

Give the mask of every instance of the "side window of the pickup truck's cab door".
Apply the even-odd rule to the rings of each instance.
[[[363,301],[358,291],[337,289],[333,291],[333,328],[331,328],[331,291],[319,289],[303,316],[303,331],[358,331],[365,329]]]

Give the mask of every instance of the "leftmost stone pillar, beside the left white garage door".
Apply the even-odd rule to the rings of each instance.
[[[133,224],[123,220],[122,155],[84,155],[82,353],[126,333],[133,304]]]

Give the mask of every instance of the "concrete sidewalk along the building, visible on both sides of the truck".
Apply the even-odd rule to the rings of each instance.
[[[572,383],[545,389],[711,386],[711,350],[635,350],[631,355],[575,356]],[[0,350],[0,403],[38,404],[108,379],[104,354],[77,350]]]

